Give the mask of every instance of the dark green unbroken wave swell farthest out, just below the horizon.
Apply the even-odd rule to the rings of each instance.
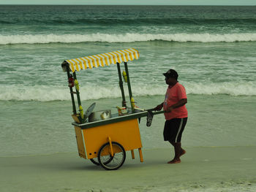
[[[196,25],[238,25],[238,24],[255,24],[255,18],[20,18],[12,20],[0,20],[1,24],[19,24],[26,25],[32,24],[47,24],[47,25],[77,25],[77,24],[89,24],[89,25],[168,25],[168,24],[196,24]]]

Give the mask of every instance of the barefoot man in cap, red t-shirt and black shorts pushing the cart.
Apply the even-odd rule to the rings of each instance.
[[[182,132],[187,123],[187,94],[183,85],[178,82],[178,73],[169,69],[165,75],[165,82],[168,85],[165,93],[165,101],[157,105],[154,110],[165,111],[164,140],[170,142],[175,150],[173,160],[168,164],[181,163],[180,156],[186,153],[181,147]]]

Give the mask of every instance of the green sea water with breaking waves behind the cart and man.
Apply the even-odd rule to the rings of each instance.
[[[1,5],[0,156],[77,151],[61,63],[130,47],[140,53],[128,62],[138,107],[160,104],[162,73],[178,72],[188,96],[185,147],[255,145],[255,23],[256,7]],[[115,65],[77,77],[84,110],[96,102],[117,112]],[[143,148],[170,147],[164,123],[163,115],[151,127],[141,119]]]

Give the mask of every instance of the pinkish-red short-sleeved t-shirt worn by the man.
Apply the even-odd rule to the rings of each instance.
[[[165,93],[164,110],[167,110],[168,107],[178,103],[181,99],[187,99],[184,86],[178,82],[173,87],[169,85]],[[171,120],[173,118],[187,118],[187,108],[185,105],[173,109],[172,112],[165,112],[166,120]]]

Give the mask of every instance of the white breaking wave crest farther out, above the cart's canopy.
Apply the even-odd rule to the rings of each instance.
[[[0,35],[0,45],[78,42],[254,42],[256,33],[243,34],[37,34]]]

